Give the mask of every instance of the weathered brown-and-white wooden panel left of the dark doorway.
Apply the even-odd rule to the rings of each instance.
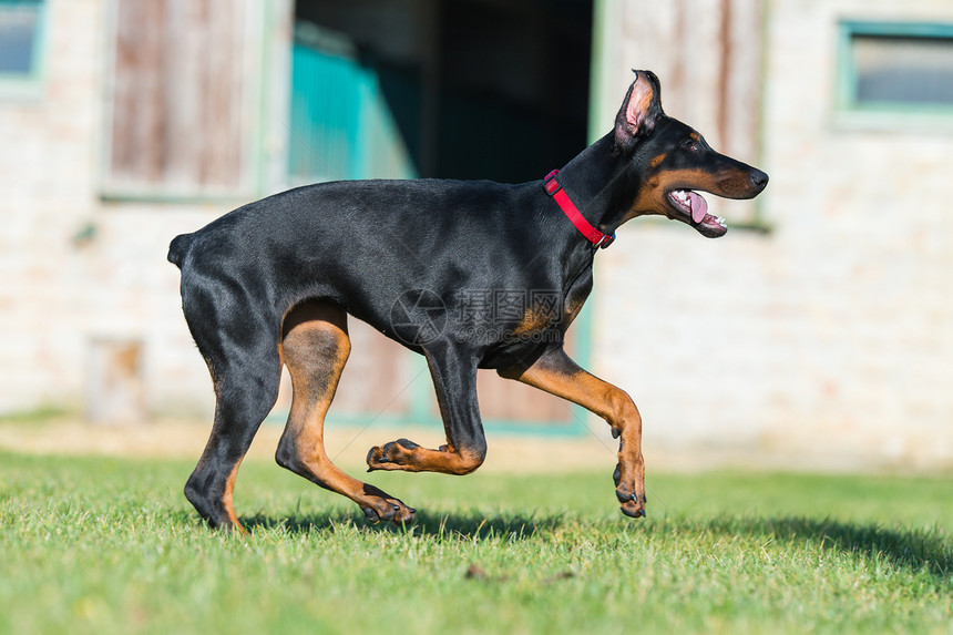
[[[2,0],[0,0],[2,1]],[[254,187],[249,2],[119,0],[104,196],[232,199]]]

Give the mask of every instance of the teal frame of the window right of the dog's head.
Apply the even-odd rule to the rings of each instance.
[[[881,38],[924,38],[950,40],[953,45],[953,22],[879,22],[841,20],[838,24],[836,111],[841,121],[894,122],[895,115],[923,121],[949,122],[953,127],[953,104],[915,104],[898,102],[860,102],[857,100],[857,69],[853,63],[852,39],[857,35]]]

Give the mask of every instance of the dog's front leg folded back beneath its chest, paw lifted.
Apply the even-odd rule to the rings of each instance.
[[[369,472],[469,474],[483,464],[486,439],[476,402],[476,360],[465,346],[443,340],[429,344],[424,355],[443,418],[447,444],[430,450],[398,439],[376,445],[367,455]]]

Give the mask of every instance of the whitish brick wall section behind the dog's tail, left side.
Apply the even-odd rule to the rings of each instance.
[[[81,408],[102,338],[141,342],[150,408],[207,403],[165,253],[228,206],[101,199],[109,3],[48,4],[38,94],[0,92],[0,412]]]

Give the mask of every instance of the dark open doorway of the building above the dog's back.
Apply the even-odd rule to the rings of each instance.
[[[540,178],[562,166],[586,145],[592,3],[298,0],[296,33],[317,29],[330,37],[310,38],[310,43],[296,37],[296,47],[317,47],[321,54],[349,60],[355,76],[370,73],[371,98],[368,90],[351,91],[340,83],[332,90],[386,103],[399,136],[393,143],[400,148],[383,148],[397,158],[367,167],[368,155],[391,142],[387,135],[361,141],[344,131],[334,139],[351,144],[350,157],[342,158],[342,151],[331,144],[328,152],[337,156],[322,162],[337,161],[345,172],[339,177],[417,175],[510,183]],[[335,81],[350,80],[338,75]],[[320,85],[325,93],[305,94]],[[297,75],[293,79],[299,100],[326,100],[328,90],[327,83],[308,86]],[[327,125],[314,122],[326,116],[320,112],[308,110],[308,130],[295,131],[305,135],[303,145],[320,145],[318,140],[307,143],[308,134],[330,134]],[[409,165],[397,165],[401,156]]]

